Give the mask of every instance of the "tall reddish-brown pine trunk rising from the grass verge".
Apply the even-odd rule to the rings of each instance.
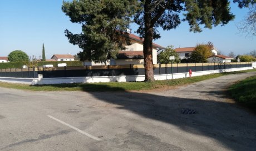
[[[149,2],[150,3],[150,2]],[[150,12],[149,3],[145,3],[145,12]],[[144,53],[144,69],[145,69],[145,81],[153,82],[154,71],[153,71],[153,57],[152,57],[152,41],[153,41],[153,27],[151,24],[151,13],[144,14],[145,23],[145,37],[143,42],[143,53]]]

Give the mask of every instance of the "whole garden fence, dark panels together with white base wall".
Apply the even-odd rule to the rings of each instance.
[[[252,63],[180,63],[180,64],[154,64],[156,80],[189,77],[191,69],[193,76],[232,72],[252,69]],[[144,66],[80,66],[80,67],[37,67],[1,69],[0,80],[3,78],[33,78],[31,84],[57,84],[57,83],[85,83],[85,82],[128,82],[143,81],[145,79]]]

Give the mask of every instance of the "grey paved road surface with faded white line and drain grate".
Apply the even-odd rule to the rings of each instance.
[[[252,75],[147,93],[0,88],[0,150],[255,150],[256,115],[223,93]]]

